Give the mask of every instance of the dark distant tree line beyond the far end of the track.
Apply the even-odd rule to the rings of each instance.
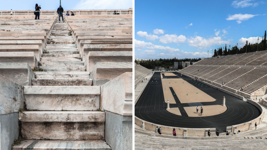
[[[163,59],[155,59],[155,60],[135,60],[134,63],[139,64],[145,68],[148,69],[155,69],[155,67],[163,67],[165,69],[168,69],[170,67],[174,67],[174,63],[179,63],[179,69],[182,69],[182,62],[190,62],[190,64],[193,64],[193,62],[200,61],[201,58],[184,58],[184,59],[177,59],[175,58],[163,58]]]

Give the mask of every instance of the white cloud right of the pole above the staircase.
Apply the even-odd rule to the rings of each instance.
[[[76,2],[76,1],[75,1]],[[129,9],[133,8],[132,0],[80,0],[73,9]]]

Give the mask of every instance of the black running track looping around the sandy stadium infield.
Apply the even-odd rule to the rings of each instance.
[[[164,78],[180,78],[181,74],[172,72],[177,76],[163,76]],[[191,82],[191,78],[182,76],[182,79]],[[153,82],[152,82],[153,81]],[[157,82],[155,82],[157,81]],[[156,83],[156,84],[154,84]],[[205,84],[204,84],[205,85]],[[180,128],[216,128],[220,132],[226,132],[227,126],[245,123],[260,116],[260,110],[254,105],[235,98],[227,93],[218,91],[210,86],[198,86],[193,84],[201,91],[215,98],[215,102],[205,102],[205,105],[222,104],[222,98],[226,98],[226,111],[219,115],[208,117],[187,117],[179,116],[168,112],[167,103],[164,102],[163,87],[160,72],[155,72],[148,85],[135,104],[135,116],[158,125],[180,127]],[[176,91],[178,92],[178,91]],[[187,106],[183,104],[170,104],[170,108]],[[203,111],[205,113],[205,110]],[[252,123],[253,124],[253,123]]]

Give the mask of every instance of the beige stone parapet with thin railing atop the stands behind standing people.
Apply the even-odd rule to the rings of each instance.
[[[67,11],[69,11],[69,14],[71,15],[70,11],[74,12],[74,15],[76,16],[84,16],[84,15],[113,15],[114,10],[119,12],[119,15],[132,15],[133,14],[133,8],[129,9],[102,9],[102,10],[64,10],[64,13],[66,15]],[[12,15],[27,15],[31,16],[34,15],[34,10],[13,10]],[[0,16],[10,16],[11,10],[1,10]],[[40,10],[40,16],[42,15],[58,15],[56,10]]]

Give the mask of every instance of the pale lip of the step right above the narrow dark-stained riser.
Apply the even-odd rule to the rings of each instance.
[[[88,71],[35,72],[37,79],[90,79]]]

